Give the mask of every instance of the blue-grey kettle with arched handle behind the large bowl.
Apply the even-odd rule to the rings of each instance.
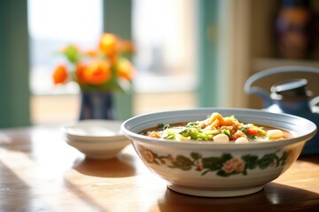
[[[308,66],[280,66],[253,74],[245,82],[244,91],[249,95],[259,95],[264,109],[274,113],[289,113],[305,117],[319,126],[319,96],[311,99],[312,92],[307,90],[307,79],[287,79],[270,87],[270,94],[261,87],[253,86],[257,80],[280,73],[310,72],[319,74],[319,69]],[[319,86],[319,81],[318,81]],[[302,155],[319,154],[319,133],[308,140]]]

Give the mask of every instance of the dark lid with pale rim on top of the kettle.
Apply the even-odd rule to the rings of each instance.
[[[270,88],[271,97],[277,99],[279,96],[296,97],[309,96],[310,92],[306,90],[307,79],[289,79],[279,82]],[[279,96],[278,96],[279,95]]]

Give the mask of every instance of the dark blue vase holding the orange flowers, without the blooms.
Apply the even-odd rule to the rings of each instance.
[[[83,119],[114,119],[112,92],[82,90],[79,120]]]

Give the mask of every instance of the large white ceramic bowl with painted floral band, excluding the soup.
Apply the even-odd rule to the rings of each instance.
[[[240,122],[291,131],[292,139],[255,143],[159,140],[139,134],[158,124],[203,120],[213,112],[235,115]],[[227,197],[261,191],[296,161],[316,132],[302,117],[245,109],[164,111],[132,117],[121,125],[144,164],[179,193]],[[227,168],[227,169],[226,169]]]

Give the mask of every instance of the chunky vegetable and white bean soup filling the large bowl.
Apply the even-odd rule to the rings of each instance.
[[[199,140],[219,143],[235,142],[247,143],[250,141],[272,141],[292,138],[292,133],[265,125],[243,123],[235,116],[222,117],[214,112],[204,120],[162,124],[147,129],[141,134],[165,140]]]

